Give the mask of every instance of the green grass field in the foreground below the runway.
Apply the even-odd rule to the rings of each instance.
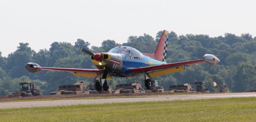
[[[0,109],[1,122],[255,122],[256,97]]]

